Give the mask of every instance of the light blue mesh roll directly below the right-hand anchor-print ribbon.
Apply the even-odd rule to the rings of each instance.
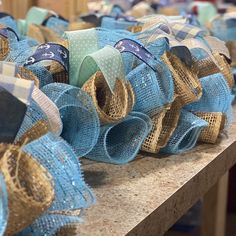
[[[162,61],[159,61],[157,65],[157,72],[143,63],[131,71],[127,79],[135,93],[134,111],[152,117],[173,102],[173,78],[168,67]]]

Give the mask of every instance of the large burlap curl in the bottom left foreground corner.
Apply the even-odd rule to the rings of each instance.
[[[8,191],[9,218],[5,235],[14,235],[30,225],[53,199],[52,177],[19,146],[0,145],[0,170]]]

